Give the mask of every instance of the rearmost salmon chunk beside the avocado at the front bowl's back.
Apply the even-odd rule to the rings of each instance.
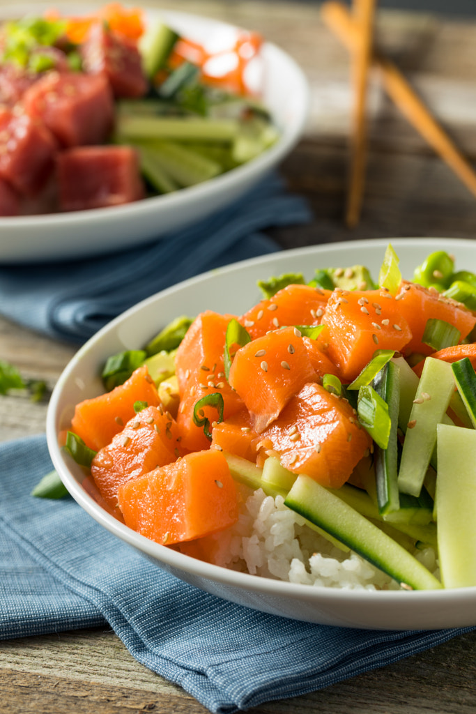
[[[319,325],[330,290],[309,285],[288,285],[269,300],[262,300],[239,318],[251,338],[278,327]]]

